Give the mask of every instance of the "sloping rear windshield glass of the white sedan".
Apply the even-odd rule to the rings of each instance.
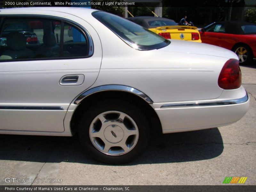
[[[153,50],[170,44],[167,39],[116,15],[101,11],[92,15],[134,49]]]

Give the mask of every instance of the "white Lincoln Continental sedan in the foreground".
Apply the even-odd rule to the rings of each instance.
[[[2,9],[0,18],[1,134],[78,134],[94,158],[122,164],[150,133],[224,126],[248,110],[227,49],[86,8]]]

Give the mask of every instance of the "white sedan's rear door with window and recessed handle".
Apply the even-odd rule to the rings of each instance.
[[[36,36],[13,28],[1,44],[0,130],[63,132],[71,101],[99,74],[102,49],[92,26],[73,15],[47,13],[2,16],[1,32],[20,22]]]

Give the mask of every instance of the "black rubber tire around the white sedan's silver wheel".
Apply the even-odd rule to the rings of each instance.
[[[106,111],[120,111],[125,113],[132,118],[138,127],[139,137],[137,143],[131,151],[124,155],[111,156],[104,154],[92,144],[89,134],[90,125],[96,116]],[[148,145],[149,135],[148,121],[142,110],[125,100],[106,99],[92,104],[86,108],[78,125],[79,140],[86,152],[98,161],[108,164],[124,164],[140,156]]]

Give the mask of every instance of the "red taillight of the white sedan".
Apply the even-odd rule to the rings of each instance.
[[[237,89],[242,84],[241,70],[239,61],[236,59],[228,60],[220,71],[218,85],[222,89]]]

